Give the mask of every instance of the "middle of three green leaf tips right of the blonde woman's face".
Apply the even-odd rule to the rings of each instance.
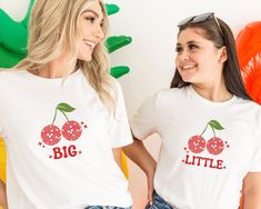
[[[106,47],[109,53],[116,51],[117,49],[120,49],[127,44],[129,44],[132,41],[131,37],[127,36],[113,36],[109,37],[106,40]]]

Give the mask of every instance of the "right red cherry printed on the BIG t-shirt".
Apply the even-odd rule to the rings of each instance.
[[[69,140],[69,141],[74,141],[81,137],[81,126],[74,121],[74,120],[69,120],[62,126],[61,133],[62,136]]]

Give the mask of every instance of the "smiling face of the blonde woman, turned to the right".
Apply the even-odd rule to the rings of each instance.
[[[104,38],[103,12],[98,0],[88,1],[79,17],[78,59],[90,61],[96,46]]]

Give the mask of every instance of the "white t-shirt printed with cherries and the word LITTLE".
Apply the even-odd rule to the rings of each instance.
[[[131,128],[141,140],[160,135],[154,187],[179,209],[237,209],[243,178],[261,171],[261,109],[252,101],[165,89],[141,106]]]

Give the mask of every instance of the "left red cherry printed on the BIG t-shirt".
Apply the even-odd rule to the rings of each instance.
[[[41,138],[46,145],[53,146],[61,140],[61,130],[54,125],[48,125],[42,129]]]

